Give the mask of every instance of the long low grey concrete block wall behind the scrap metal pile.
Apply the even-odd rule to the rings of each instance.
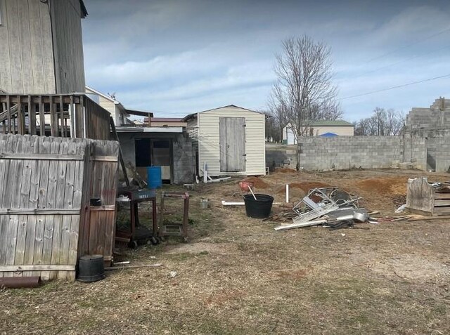
[[[338,136],[300,140],[305,170],[387,169],[403,162],[401,136]]]

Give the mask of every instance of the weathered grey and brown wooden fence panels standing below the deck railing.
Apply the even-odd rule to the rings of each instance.
[[[0,135],[0,277],[74,280],[78,256],[110,259],[118,147]],[[91,211],[93,194],[107,206]]]

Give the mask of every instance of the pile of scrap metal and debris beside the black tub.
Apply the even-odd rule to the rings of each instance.
[[[353,227],[355,223],[378,223],[370,218],[365,208],[359,208],[359,199],[340,188],[314,188],[292,211],[272,216],[271,220],[291,218],[293,223],[279,225],[275,230],[323,225],[330,229]]]

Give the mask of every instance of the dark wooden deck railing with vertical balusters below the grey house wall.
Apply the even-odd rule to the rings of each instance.
[[[110,113],[84,94],[0,94],[0,132],[110,139]]]

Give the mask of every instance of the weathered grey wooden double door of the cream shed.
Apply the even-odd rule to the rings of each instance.
[[[245,117],[220,117],[220,171],[245,171]]]

